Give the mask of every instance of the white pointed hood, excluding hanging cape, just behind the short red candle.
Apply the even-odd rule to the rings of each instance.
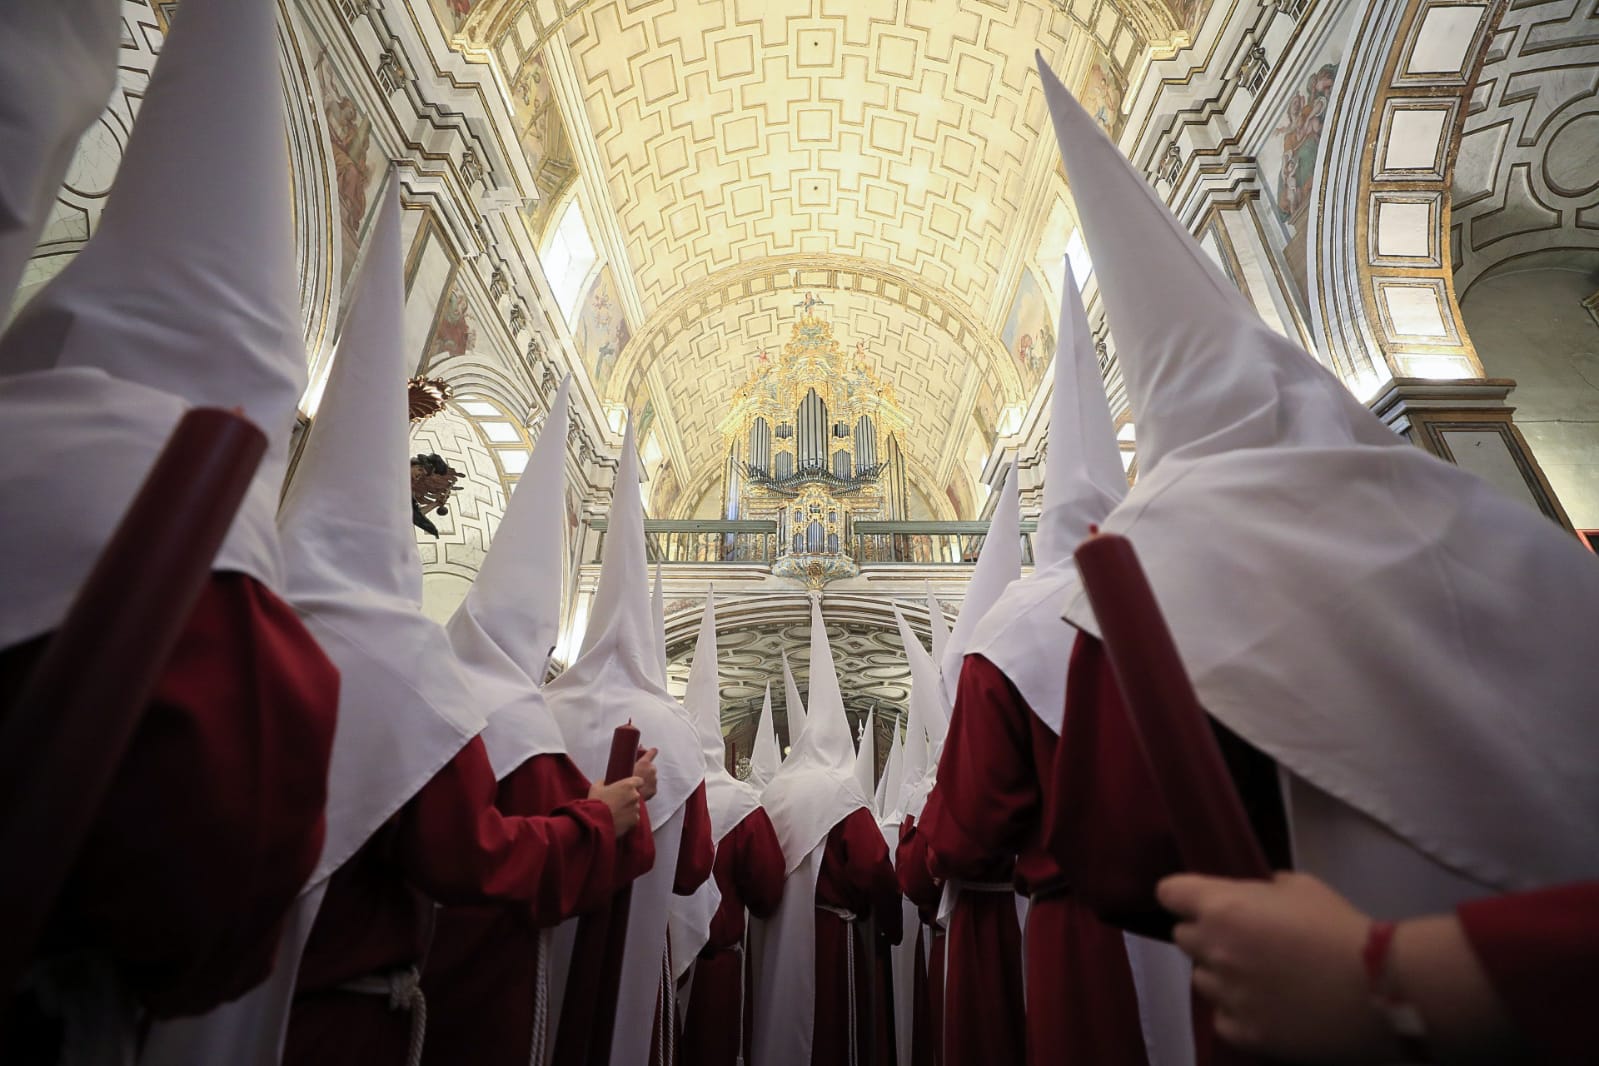
[[[582,650],[545,687],[545,698],[566,737],[577,769],[604,778],[611,735],[632,721],[640,743],[660,748],[659,791],[649,804],[656,825],[676,812],[705,778],[699,734],[667,692],[657,654],[644,561],[644,508],[638,499],[638,451],[628,424],[616,471],[600,587],[588,611]]]

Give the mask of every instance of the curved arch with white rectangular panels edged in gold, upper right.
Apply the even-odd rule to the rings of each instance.
[[[1359,396],[1390,377],[1482,377],[1449,262],[1450,182],[1506,0],[1377,0],[1345,48],[1311,205],[1316,344]]]

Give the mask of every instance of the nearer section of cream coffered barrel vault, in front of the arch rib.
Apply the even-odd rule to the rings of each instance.
[[[587,5],[566,43],[646,315],[726,267],[807,254],[987,312],[1047,121],[1033,51],[1075,32],[1020,0]]]

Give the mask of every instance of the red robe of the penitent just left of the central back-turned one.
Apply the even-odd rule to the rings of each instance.
[[[752,970],[745,965],[745,911],[768,919],[784,898],[784,852],[766,810],[756,807],[716,845],[712,871],[721,903],[710,921],[710,940],[694,962],[694,994],[683,1021],[681,1061],[732,1066],[744,1031],[744,1061],[755,1039]],[[742,1023],[729,1015],[742,1012]]]

